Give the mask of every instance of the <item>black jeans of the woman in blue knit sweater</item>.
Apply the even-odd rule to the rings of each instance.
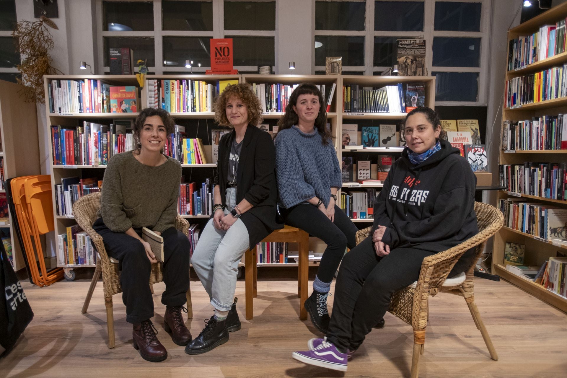
[[[333,281],[345,248],[354,248],[356,245],[358,229],[352,220],[336,205],[335,222],[331,222],[323,211],[308,203],[302,203],[290,209],[280,208],[280,213],[284,216],[286,224],[301,228],[327,244],[327,249],[321,257],[317,277],[322,282]]]

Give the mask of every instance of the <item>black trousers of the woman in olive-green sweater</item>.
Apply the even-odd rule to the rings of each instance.
[[[140,323],[154,316],[154,299],[150,291],[151,262],[142,243],[123,232],[113,232],[102,218],[92,228],[103,237],[108,256],[120,261],[122,301],[126,305],[126,321]],[[136,230],[141,235],[141,230]],[[180,306],[187,302],[189,289],[189,239],[175,227],[162,232],[164,262],[163,282],[166,290],[162,303]]]

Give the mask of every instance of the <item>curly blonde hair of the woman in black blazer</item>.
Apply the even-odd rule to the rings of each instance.
[[[256,126],[262,122],[264,118],[262,117],[260,99],[252,92],[249,84],[239,83],[227,86],[214,103],[214,119],[219,125],[232,127],[232,124],[226,118],[226,103],[232,97],[236,97],[246,105],[249,124]]]

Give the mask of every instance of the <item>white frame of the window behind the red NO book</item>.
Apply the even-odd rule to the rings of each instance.
[[[120,0],[105,0],[105,1],[120,1]],[[122,0],[125,1],[125,0]],[[148,0],[127,0],[127,1],[141,1],[148,2]],[[182,1],[207,1],[207,0],[182,0]],[[230,0],[230,1],[252,1],[252,2],[270,2],[274,0]],[[281,0],[276,0],[281,1]],[[182,36],[182,37],[213,37],[225,38],[225,36],[246,36],[246,37],[273,37],[274,44],[276,44],[275,37],[276,31],[258,31],[258,30],[225,30],[225,7],[224,0],[212,0],[213,3],[213,30],[212,31],[167,31],[162,30],[162,0],[153,0],[154,3],[154,30],[153,31],[130,31],[130,32],[112,32],[103,31],[103,0],[96,0],[96,33],[101,39],[104,37],[153,37],[154,39],[154,54],[155,66],[147,67],[148,71],[157,75],[167,74],[170,72],[187,71],[187,73],[205,74],[205,71],[210,69],[209,62],[201,62],[201,67],[197,67],[196,62],[192,69],[187,69],[184,66],[165,66],[163,64],[163,37]],[[277,7],[276,7],[277,12]],[[276,14],[277,20],[277,14]],[[277,22],[277,21],[276,21]],[[98,67],[100,72],[108,73],[110,67],[104,66],[104,48],[103,41],[98,44]],[[275,63],[277,57],[277,44],[274,45],[274,71],[276,70]],[[234,66],[235,70],[239,71],[257,71],[257,66]]]

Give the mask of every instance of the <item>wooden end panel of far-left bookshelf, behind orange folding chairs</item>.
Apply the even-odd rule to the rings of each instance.
[[[37,110],[35,103],[24,101],[24,86],[0,80],[0,159],[3,160],[4,179],[18,176],[39,175],[39,143],[37,135]],[[3,183],[5,185],[5,183]],[[0,193],[6,194],[5,189]],[[0,225],[0,231],[10,235],[14,270],[24,265],[23,251],[15,235],[14,215]]]

